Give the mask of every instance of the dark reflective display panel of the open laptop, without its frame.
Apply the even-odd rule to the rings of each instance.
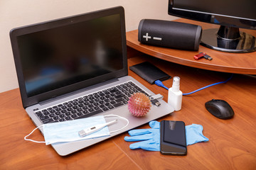
[[[28,97],[122,69],[118,14],[18,36]]]

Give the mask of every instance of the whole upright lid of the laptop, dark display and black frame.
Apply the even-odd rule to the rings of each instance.
[[[122,7],[11,30],[24,108],[127,75]]]

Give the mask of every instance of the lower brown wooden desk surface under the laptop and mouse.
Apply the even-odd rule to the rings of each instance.
[[[181,91],[224,81],[230,74],[186,67],[155,57],[129,58],[129,66],[149,61],[172,77],[181,77]],[[167,91],[150,85],[129,70],[129,75],[167,100]],[[168,87],[172,79],[164,81]],[[35,128],[22,108],[18,89],[0,94],[0,169],[256,169],[256,79],[235,74],[226,84],[212,86],[191,96],[183,96],[181,111],[159,120],[183,120],[186,125],[203,125],[209,142],[188,146],[183,157],[160,152],[129,149],[127,132],[100,142],[68,157],[60,157],[52,147],[23,140]],[[212,98],[228,101],[235,111],[230,120],[210,115],[204,103]],[[149,128],[143,125],[140,128]],[[31,136],[43,140],[39,131]]]

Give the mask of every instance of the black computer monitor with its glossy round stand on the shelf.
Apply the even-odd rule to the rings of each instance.
[[[256,51],[256,38],[239,30],[256,30],[256,0],[169,0],[168,13],[220,25],[203,30],[203,46],[223,52]]]

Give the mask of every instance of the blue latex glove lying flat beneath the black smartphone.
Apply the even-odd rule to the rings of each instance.
[[[142,141],[131,144],[130,149],[145,149],[149,151],[160,151],[160,123],[149,122],[151,129],[130,130],[130,137],[124,137],[127,142]],[[202,125],[186,125],[186,143],[193,145],[197,142],[207,142],[208,138],[203,136]]]

